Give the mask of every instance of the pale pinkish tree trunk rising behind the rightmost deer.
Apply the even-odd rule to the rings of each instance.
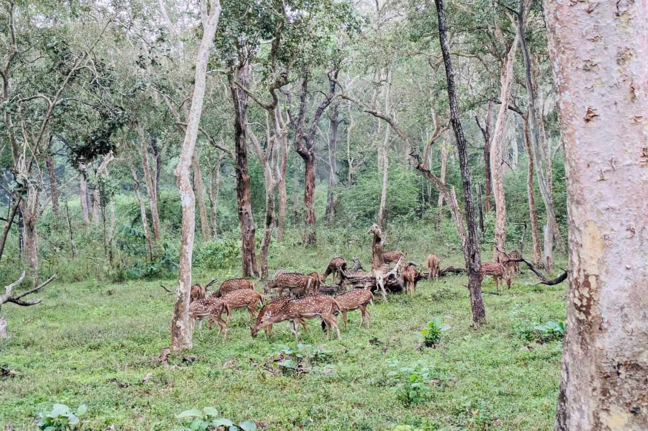
[[[518,49],[518,34],[513,39],[513,45],[509,49],[502,65],[500,82],[502,91],[500,93],[500,112],[495,122],[495,130],[491,140],[491,178],[492,191],[495,198],[495,245],[493,260],[499,260],[497,249],[506,250],[506,198],[504,196],[503,170],[502,170],[502,148],[506,137],[506,129],[509,118],[509,98],[511,96],[511,84],[513,82],[513,63],[515,63],[515,52]]]

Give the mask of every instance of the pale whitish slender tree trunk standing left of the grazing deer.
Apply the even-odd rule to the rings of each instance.
[[[182,228],[178,263],[178,291],[171,318],[172,351],[191,349],[192,347],[193,327],[192,321],[189,320],[189,294],[191,292],[191,258],[194,250],[194,230],[196,227],[196,201],[194,200],[194,190],[191,187],[190,173],[205,96],[207,61],[209,60],[209,51],[213,45],[214,34],[216,33],[216,27],[218,27],[218,17],[220,16],[220,3],[218,0],[210,0],[209,6],[209,15],[207,15],[207,0],[201,2],[203,35],[196,56],[194,91],[191,97],[191,109],[187,117],[185,139],[182,143],[180,161],[174,172],[180,193]],[[153,197],[155,197],[155,190],[152,185],[151,191]]]

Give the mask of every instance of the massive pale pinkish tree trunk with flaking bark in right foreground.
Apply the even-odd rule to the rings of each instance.
[[[648,5],[546,1],[567,180],[556,430],[648,424]]]

